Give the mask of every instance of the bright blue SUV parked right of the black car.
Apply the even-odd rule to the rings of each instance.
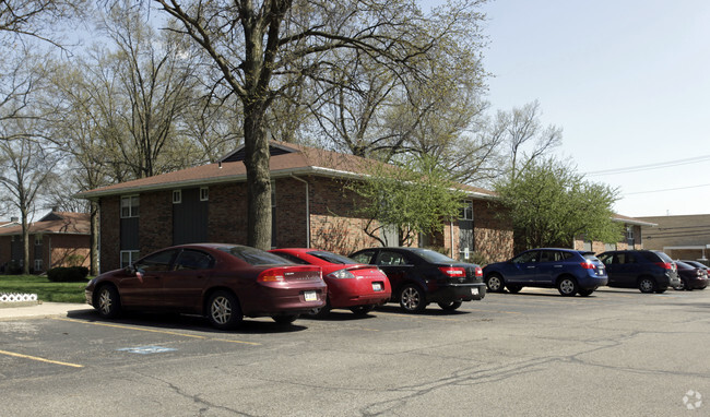
[[[490,293],[501,293],[504,287],[513,294],[522,287],[543,287],[557,288],[566,297],[587,297],[607,282],[604,264],[593,252],[558,248],[531,249],[488,264],[483,277]]]

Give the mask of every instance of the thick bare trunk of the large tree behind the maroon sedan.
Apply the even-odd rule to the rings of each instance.
[[[271,172],[263,114],[261,104],[245,105],[247,245],[269,250],[271,249]]]

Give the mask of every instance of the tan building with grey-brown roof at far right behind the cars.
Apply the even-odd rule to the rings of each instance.
[[[710,214],[639,217],[656,227],[643,227],[646,249],[662,250],[673,259],[708,262]]]

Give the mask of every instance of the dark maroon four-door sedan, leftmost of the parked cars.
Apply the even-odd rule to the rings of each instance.
[[[291,323],[326,306],[327,294],[318,266],[246,246],[200,243],[166,248],[97,276],[86,286],[86,302],[104,318],[123,310],[174,311],[232,329],[245,315]]]

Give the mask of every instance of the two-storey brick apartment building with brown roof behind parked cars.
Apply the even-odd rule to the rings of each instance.
[[[310,247],[347,254],[379,246],[365,234],[358,196],[344,186],[362,180],[368,160],[353,155],[270,143],[272,246]],[[128,265],[159,248],[189,242],[247,242],[244,146],[218,163],[80,193],[100,207],[100,270]],[[453,258],[489,261],[512,255],[512,227],[494,192],[460,186],[466,193],[459,219],[443,224],[424,247]],[[392,237],[388,245],[397,246]]]

